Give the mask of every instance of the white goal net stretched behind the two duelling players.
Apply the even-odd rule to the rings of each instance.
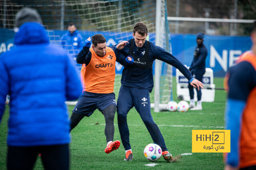
[[[0,4],[0,29],[12,31],[14,18],[18,10],[31,7],[38,10],[42,23],[47,29],[50,43],[60,45],[61,36],[67,32],[68,23],[73,21],[83,39],[96,33],[106,37],[107,45],[133,38],[135,23],[143,22],[148,28],[148,40],[155,43],[156,19],[161,20],[161,45],[170,52],[169,27],[167,21],[166,0],[161,1],[161,17],[156,18],[156,0],[4,0]],[[12,39],[14,33],[0,32],[0,41]],[[161,63],[160,103],[171,100],[172,68]],[[80,64],[78,64],[78,69]],[[153,68],[154,72],[154,68]],[[118,96],[122,66],[116,63],[114,93]],[[151,101],[154,101],[154,95]]]

